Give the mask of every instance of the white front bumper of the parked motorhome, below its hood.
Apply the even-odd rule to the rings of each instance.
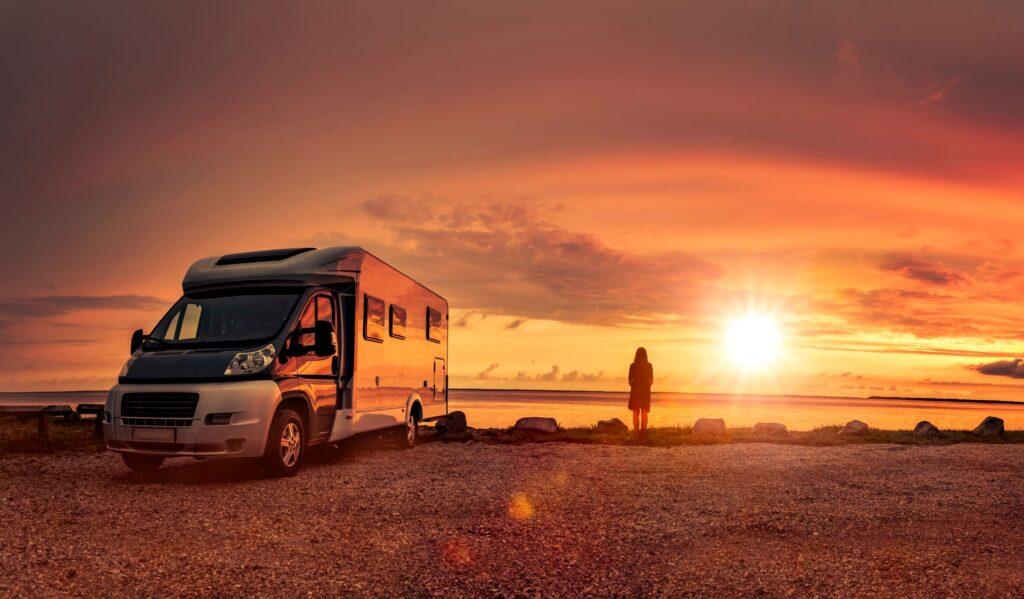
[[[196,413],[187,426],[135,426],[121,416],[125,393],[198,393]],[[177,385],[117,385],[106,398],[111,422],[103,423],[108,448],[157,456],[256,458],[263,455],[266,435],[281,389],[273,381],[239,381]],[[210,414],[230,413],[229,424],[206,424]],[[182,423],[177,423],[182,424]],[[169,438],[152,440],[154,429]],[[168,433],[168,429],[173,433]],[[145,433],[150,434],[145,434]],[[151,440],[139,437],[147,436]]]

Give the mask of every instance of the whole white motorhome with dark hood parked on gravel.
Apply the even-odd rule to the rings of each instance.
[[[106,446],[129,468],[259,458],[447,414],[447,302],[360,248],[204,258],[111,389]]]

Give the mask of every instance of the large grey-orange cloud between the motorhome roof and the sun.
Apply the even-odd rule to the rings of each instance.
[[[378,199],[365,209],[402,213],[409,206],[415,204]],[[722,273],[684,252],[611,248],[518,204],[455,206],[434,214],[392,223],[392,243],[381,255],[444,290],[453,306],[516,316],[511,329],[527,318],[611,326],[684,320]],[[333,237],[340,236],[318,239]]]

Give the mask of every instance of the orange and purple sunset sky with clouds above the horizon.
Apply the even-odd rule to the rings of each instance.
[[[362,245],[453,386],[1024,400],[1024,4],[0,3],[0,390]],[[777,324],[752,369],[730,324]]]

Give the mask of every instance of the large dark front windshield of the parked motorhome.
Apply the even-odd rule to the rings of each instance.
[[[285,326],[300,291],[232,292],[184,296],[153,330],[157,345],[230,346],[274,337]]]

